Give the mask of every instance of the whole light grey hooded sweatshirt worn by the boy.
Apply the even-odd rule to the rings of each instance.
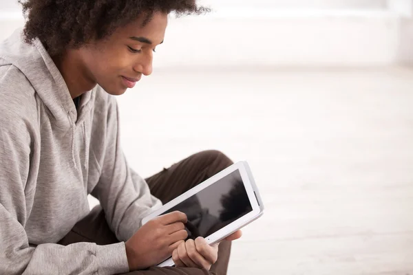
[[[96,86],[78,111],[39,40],[0,43],[0,274],[128,272],[125,243],[161,205],[120,147],[116,100]],[[57,245],[98,198],[121,241]]]

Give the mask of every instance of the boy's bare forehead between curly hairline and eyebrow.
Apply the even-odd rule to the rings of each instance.
[[[155,45],[161,43],[165,36],[165,30],[168,24],[168,15],[162,12],[155,12],[145,25],[143,25],[147,15],[139,17],[135,21],[116,30],[114,36],[116,39],[129,39],[131,36],[143,36]]]

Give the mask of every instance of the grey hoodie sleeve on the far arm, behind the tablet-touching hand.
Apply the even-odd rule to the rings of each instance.
[[[100,201],[116,237],[127,241],[140,228],[142,218],[162,203],[151,195],[145,179],[129,168],[120,147],[119,113],[114,96],[109,96],[108,104],[105,155],[92,195]]]

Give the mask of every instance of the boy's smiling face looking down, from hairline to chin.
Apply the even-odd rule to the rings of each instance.
[[[145,27],[145,17],[118,28],[107,39],[81,48],[88,77],[107,93],[120,95],[142,74],[152,73],[153,50],[163,42],[167,14],[156,12]]]

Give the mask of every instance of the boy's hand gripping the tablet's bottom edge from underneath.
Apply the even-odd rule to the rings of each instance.
[[[238,230],[227,236],[225,241],[240,239],[241,236],[242,231]],[[195,241],[189,239],[186,242],[180,243],[178,248],[173,250],[173,262],[177,267],[198,267],[209,270],[211,265],[218,260],[218,245],[219,243],[209,245],[202,237],[198,237]]]

